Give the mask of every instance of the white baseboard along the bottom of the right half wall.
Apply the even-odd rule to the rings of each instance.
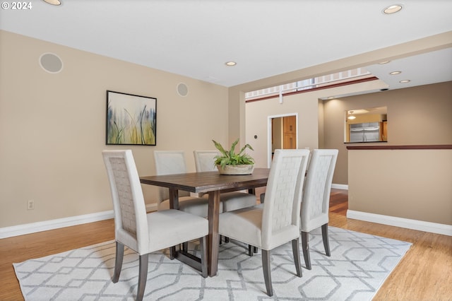
[[[452,225],[424,222],[423,220],[410,220],[353,210],[347,210],[347,218],[452,236]]]

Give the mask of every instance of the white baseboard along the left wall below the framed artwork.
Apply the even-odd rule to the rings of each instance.
[[[157,211],[157,204],[146,204],[146,211]],[[85,223],[94,223],[100,220],[108,220],[114,218],[113,211],[103,211],[97,213],[85,214],[83,216],[71,216],[69,218],[58,218],[56,220],[44,220],[37,223],[29,223],[23,225],[15,225],[11,227],[0,228],[0,239],[25,235],[35,232],[54,230],[58,228],[70,227],[73,225],[81,225]]]

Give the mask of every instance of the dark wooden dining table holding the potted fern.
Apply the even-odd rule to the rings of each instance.
[[[220,194],[229,191],[248,189],[254,193],[256,187],[265,187],[267,184],[268,168],[255,168],[251,175],[220,175],[215,172],[189,172],[177,175],[154,175],[140,177],[142,184],[150,184],[169,189],[169,208],[179,209],[179,190],[208,194],[208,276],[215,276],[218,271],[218,219],[220,215]],[[171,249],[171,256],[184,261],[191,266],[200,268],[199,260],[186,252]]]

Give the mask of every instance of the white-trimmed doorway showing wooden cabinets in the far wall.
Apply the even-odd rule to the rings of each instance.
[[[276,149],[298,148],[298,114],[268,116],[267,165],[270,167]]]

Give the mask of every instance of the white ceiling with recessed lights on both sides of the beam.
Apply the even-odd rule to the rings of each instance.
[[[0,29],[227,87],[452,30],[450,0],[61,2],[1,9]],[[363,67],[390,89],[452,81],[452,48]]]

